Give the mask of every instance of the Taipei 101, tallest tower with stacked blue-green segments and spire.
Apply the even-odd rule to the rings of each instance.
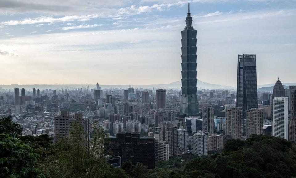
[[[181,31],[182,39],[182,100],[180,114],[186,116],[198,115],[197,87],[196,87],[196,33],[192,27],[192,17],[190,16],[190,6],[188,3],[188,13],[186,17],[186,27]]]

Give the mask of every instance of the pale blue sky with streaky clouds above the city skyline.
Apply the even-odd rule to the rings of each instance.
[[[296,82],[296,0],[0,0],[0,84],[180,81],[188,2],[199,80],[236,86],[245,53],[258,85]]]

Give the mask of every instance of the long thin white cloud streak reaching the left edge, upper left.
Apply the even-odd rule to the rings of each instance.
[[[54,22],[69,22],[69,21],[87,21],[89,19],[96,19],[99,15],[72,15],[72,16],[64,16],[61,18],[53,18],[53,17],[38,17],[35,19],[27,18],[23,20],[10,20],[1,22],[1,25],[24,25],[24,24],[35,24],[35,23],[49,23],[49,25]]]

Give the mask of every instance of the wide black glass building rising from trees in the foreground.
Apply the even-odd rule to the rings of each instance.
[[[139,133],[121,132],[116,137],[110,136],[108,143],[113,155],[121,157],[121,163],[130,161],[132,164],[142,163],[153,169],[155,167],[154,137],[140,137]]]

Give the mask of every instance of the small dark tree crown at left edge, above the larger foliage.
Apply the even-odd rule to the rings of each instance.
[[[11,116],[0,118],[0,134],[9,134],[13,137],[22,135],[23,128],[11,120]]]

